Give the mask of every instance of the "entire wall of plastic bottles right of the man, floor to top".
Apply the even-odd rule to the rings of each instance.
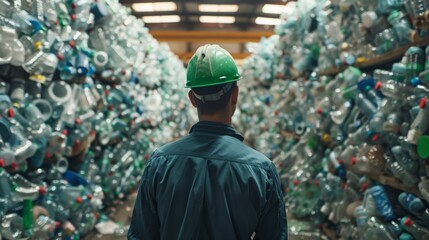
[[[385,69],[317,73],[426,36],[412,21],[429,6],[412,0],[288,4],[297,11],[281,17],[279,38],[269,41],[279,52],[266,58],[269,53],[255,51],[260,56],[243,66],[252,83],[240,83],[234,120],[277,166],[291,237],[429,238],[429,48],[409,47]],[[262,68],[267,72],[260,74]]]

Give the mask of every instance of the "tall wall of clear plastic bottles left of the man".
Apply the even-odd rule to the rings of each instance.
[[[185,69],[115,0],[0,0],[0,239],[79,239],[189,129]]]

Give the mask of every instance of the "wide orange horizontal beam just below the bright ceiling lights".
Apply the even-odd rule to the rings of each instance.
[[[269,37],[271,31],[209,32],[209,31],[150,31],[161,42],[247,43]]]

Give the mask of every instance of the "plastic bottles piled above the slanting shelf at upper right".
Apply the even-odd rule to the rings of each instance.
[[[342,68],[428,35],[429,2],[423,0],[300,0],[287,4],[276,26],[285,73]]]

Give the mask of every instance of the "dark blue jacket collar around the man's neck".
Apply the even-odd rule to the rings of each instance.
[[[244,138],[241,134],[235,130],[233,127],[218,123],[218,122],[209,122],[209,121],[199,121],[194,126],[192,126],[189,133],[212,133],[218,135],[229,135],[237,138],[240,141],[243,141]]]

